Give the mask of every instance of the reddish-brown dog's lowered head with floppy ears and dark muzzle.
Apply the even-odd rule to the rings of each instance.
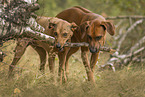
[[[100,21],[95,19],[93,21],[86,21],[80,25],[82,32],[82,39],[87,39],[89,43],[89,50],[91,53],[99,52],[100,46],[103,46],[106,38],[106,31],[110,35],[115,34],[115,27],[112,23],[107,21]]]

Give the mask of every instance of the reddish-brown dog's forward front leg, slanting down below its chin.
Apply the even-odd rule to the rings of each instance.
[[[93,72],[91,70],[91,67],[90,67],[90,64],[89,64],[89,61],[88,61],[88,48],[87,47],[82,47],[81,51],[82,51],[81,52],[81,57],[82,57],[82,61],[84,63],[85,69],[86,69],[86,73],[87,73],[87,76],[88,76],[88,81],[95,82],[94,75],[93,75]]]

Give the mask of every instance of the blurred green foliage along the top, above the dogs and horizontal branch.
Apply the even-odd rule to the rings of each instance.
[[[39,15],[55,16],[58,12],[79,5],[95,13],[108,16],[145,15],[144,0],[39,0]]]

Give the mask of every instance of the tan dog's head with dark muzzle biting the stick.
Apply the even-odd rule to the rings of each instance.
[[[61,51],[64,44],[73,36],[73,31],[77,25],[55,17],[46,19],[44,22],[46,22],[43,24],[44,33],[55,37],[55,47]]]

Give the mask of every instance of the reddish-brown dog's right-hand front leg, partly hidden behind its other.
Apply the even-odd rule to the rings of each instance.
[[[91,60],[90,60],[90,65],[91,65],[91,70],[94,72],[95,71],[95,66],[98,61],[99,53],[92,53],[91,55]]]

